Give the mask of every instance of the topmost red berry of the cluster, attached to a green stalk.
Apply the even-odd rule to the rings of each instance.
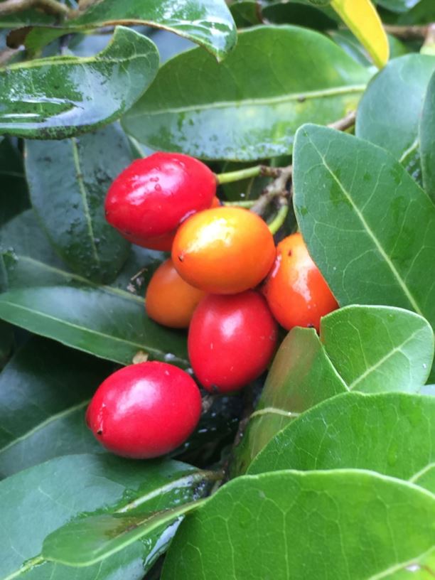
[[[114,180],[104,204],[106,219],[127,240],[156,249],[156,238],[173,235],[188,215],[210,208],[216,185],[213,171],[198,159],[154,153],[133,161]],[[165,244],[166,249],[168,240]]]

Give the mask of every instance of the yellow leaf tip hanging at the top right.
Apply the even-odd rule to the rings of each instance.
[[[388,62],[390,48],[382,22],[370,0],[331,0],[331,6],[363,44],[378,68]]]

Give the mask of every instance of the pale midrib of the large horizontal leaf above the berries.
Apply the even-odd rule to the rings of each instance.
[[[156,109],[155,111],[146,111],[138,113],[129,113],[127,117],[129,119],[135,119],[136,117],[151,117],[159,114],[176,114],[176,113],[186,113],[186,112],[198,112],[210,109],[225,109],[225,108],[241,108],[241,107],[252,107],[252,105],[269,105],[269,104],[280,104],[285,102],[296,101],[304,99],[316,99],[324,97],[333,97],[335,95],[347,95],[348,93],[363,92],[367,85],[344,85],[343,87],[333,87],[331,89],[323,89],[317,91],[307,91],[307,92],[294,92],[287,95],[279,95],[276,97],[258,97],[256,99],[243,99],[240,101],[218,101],[213,103],[200,103],[193,104],[186,107],[170,107],[168,109]]]

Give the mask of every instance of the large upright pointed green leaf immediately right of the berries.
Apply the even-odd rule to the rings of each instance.
[[[387,151],[333,129],[301,127],[294,208],[340,306],[399,306],[435,327],[435,207]]]

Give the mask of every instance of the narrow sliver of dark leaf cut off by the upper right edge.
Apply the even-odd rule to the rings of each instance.
[[[419,141],[424,190],[435,202],[435,73],[431,76],[424,99]]]

